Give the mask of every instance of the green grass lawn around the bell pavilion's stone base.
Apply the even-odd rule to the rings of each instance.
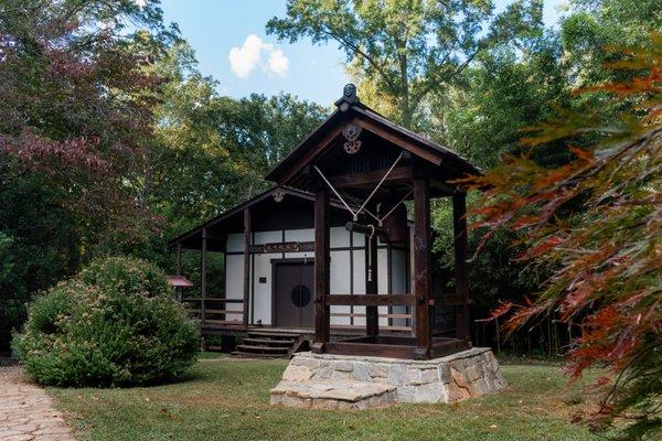
[[[556,366],[502,366],[509,390],[456,405],[318,411],[269,406],[286,365],[206,356],[178,384],[49,391],[85,440],[597,440]]]

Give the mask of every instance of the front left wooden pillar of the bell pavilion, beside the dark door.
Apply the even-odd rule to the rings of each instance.
[[[330,308],[327,304],[329,295],[329,192],[321,187],[314,197],[314,343],[312,351],[324,352],[329,342]]]

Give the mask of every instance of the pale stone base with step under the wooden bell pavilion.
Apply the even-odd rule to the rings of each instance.
[[[380,385],[383,389],[375,388]],[[298,353],[271,389],[271,404],[362,409],[391,402],[452,402],[505,386],[488,347],[429,361]]]

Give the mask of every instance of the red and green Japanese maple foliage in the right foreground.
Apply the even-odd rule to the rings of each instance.
[[[654,439],[662,432],[662,36],[613,52],[619,61],[609,67],[629,79],[577,92],[599,94],[604,108],[559,111],[530,129],[525,154],[469,183],[483,190],[474,227],[519,232],[520,258],[552,270],[533,300],[504,303],[493,316],[508,316],[511,332],[556,312],[578,331],[570,375],[607,372],[592,427],[616,421],[627,438]],[[616,119],[615,107],[623,109]],[[573,160],[551,168],[532,159],[559,140]]]

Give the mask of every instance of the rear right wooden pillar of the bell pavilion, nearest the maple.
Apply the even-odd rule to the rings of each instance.
[[[456,315],[457,337],[471,340],[469,326],[469,270],[467,267],[467,194],[452,194],[453,250],[456,263],[456,294],[462,299]]]

